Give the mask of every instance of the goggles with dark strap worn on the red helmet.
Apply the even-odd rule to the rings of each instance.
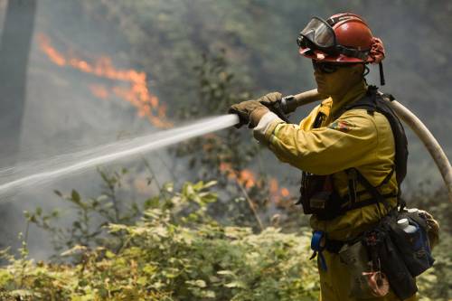
[[[313,17],[306,25],[297,39],[297,44],[301,48],[311,51],[321,51],[328,55],[344,54],[349,57],[366,60],[367,52],[347,48],[336,42],[336,35],[333,27],[319,17]]]

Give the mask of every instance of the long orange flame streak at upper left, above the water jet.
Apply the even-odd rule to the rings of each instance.
[[[91,93],[99,99],[108,99],[116,96],[124,99],[137,108],[137,115],[146,118],[155,127],[172,127],[166,119],[165,105],[159,103],[159,99],[147,88],[145,72],[135,70],[118,70],[108,57],[101,57],[94,62],[84,61],[70,55],[63,55],[52,47],[51,40],[46,35],[38,34],[38,42],[42,52],[58,66],[71,67],[75,70],[94,74],[99,78],[123,81],[130,84],[129,88],[91,85]]]

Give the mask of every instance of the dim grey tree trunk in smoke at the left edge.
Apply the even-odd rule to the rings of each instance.
[[[0,165],[14,165],[19,148],[22,117],[26,95],[26,73],[33,36],[36,0],[9,0],[0,48]],[[2,223],[0,229],[8,229],[9,219],[20,214],[9,203],[0,205]],[[11,231],[8,231],[12,235]],[[3,233],[2,236],[8,235]],[[14,235],[14,234],[13,234]],[[5,245],[11,245],[14,237],[3,237]]]

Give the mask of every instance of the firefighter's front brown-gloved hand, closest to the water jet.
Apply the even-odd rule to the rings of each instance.
[[[239,115],[240,123],[235,127],[241,127],[247,124],[250,124],[250,127],[256,127],[260,118],[268,111],[268,108],[258,100],[246,100],[232,105],[228,112]]]

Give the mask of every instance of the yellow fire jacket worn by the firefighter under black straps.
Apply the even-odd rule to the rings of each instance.
[[[344,105],[362,99],[365,83],[350,89],[342,99],[325,99],[299,125],[287,124],[268,112],[254,128],[254,136],[277,155],[282,162],[312,174],[333,174],[334,188],[344,197],[348,194],[348,177],[344,170],[355,167],[373,186],[380,186],[394,167],[395,146],[389,121],[380,113],[370,115],[365,109],[351,109],[334,116]],[[321,127],[313,128],[317,114],[325,118]],[[357,192],[365,191],[357,183]],[[378,187],[381,194],[396,194],[395,173],[388,183]],[[364,193],[357,200],[369,199]],[[391,207],[396,198],[388,199]],[[386,214],[377,204],[358,208],[331,221],[311,217],[314,230],[323,230],[332,240],[349,240],[368,230]]]

